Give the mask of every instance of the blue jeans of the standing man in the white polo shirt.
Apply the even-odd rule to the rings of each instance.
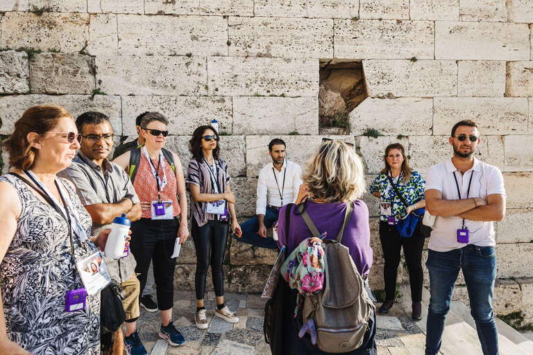
[[[498,331],[492,311],[492,294],[496,280],[494,248],[468,244],[449,252],[429,250],[425,265],[430,272],[431,287],[425,355],[436,355],[441,348],[444,322],[450,310],[459,269],[463,270],[471,315],[475,320],[483,354],[498,355]]]

